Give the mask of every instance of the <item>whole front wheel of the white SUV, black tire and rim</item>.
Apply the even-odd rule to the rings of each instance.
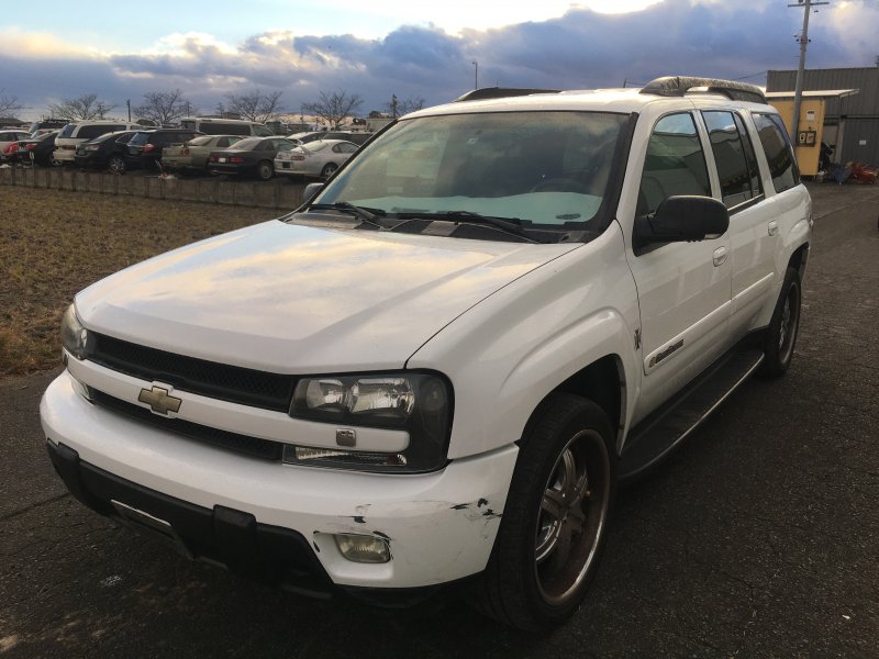
[[[498,537],[476,583],[482,613],[526,632],[566,621],[586,596],[616,495],[604,411],[553,394],[525,432]]]

